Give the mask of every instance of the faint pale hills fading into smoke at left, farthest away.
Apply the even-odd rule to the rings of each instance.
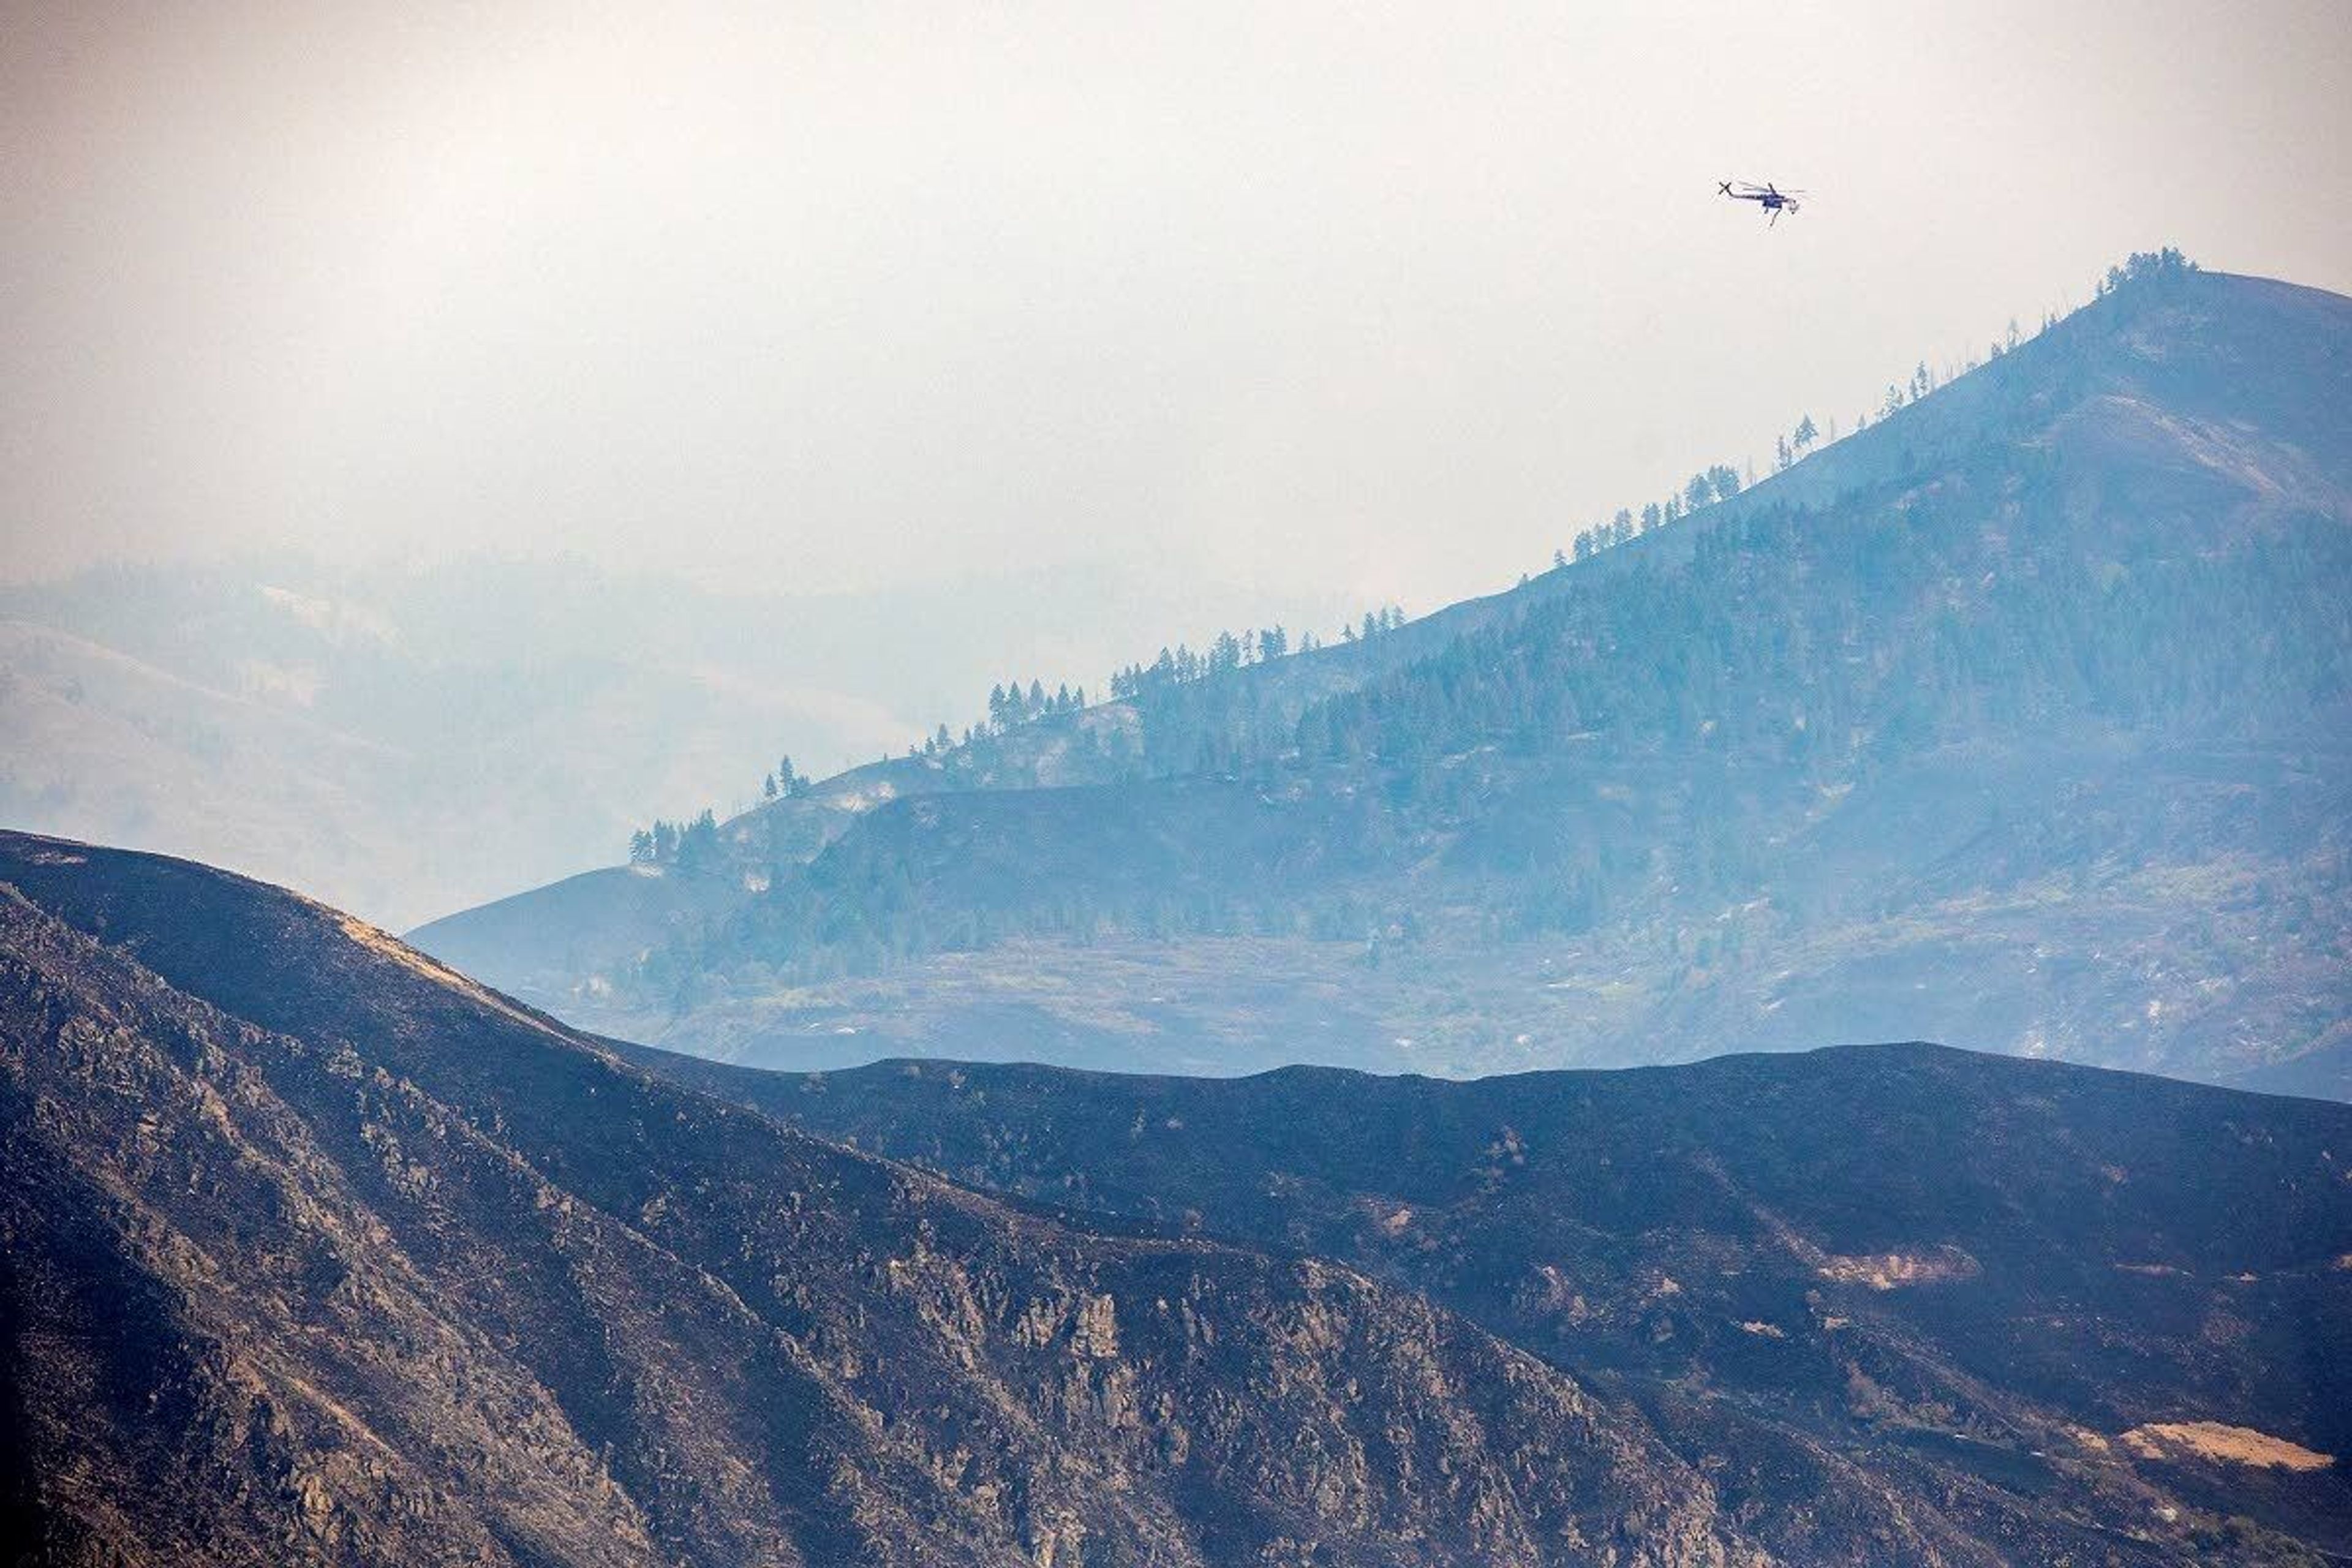
[[[898,752],[1009,665],[1108,668],[1167,604],[1096,571],[727,595],[661,567],[273,552],[0,585],[0,820],[414,924],[757,802],[786,752]],[[1044,583],[1056,625],[1002,614]]]

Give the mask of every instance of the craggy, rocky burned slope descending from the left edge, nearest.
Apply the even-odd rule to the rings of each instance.
[[[1637,1415],[1352,1269],[842,1152],[202,867],[0,882],[49,1561],[1755,1556]]]

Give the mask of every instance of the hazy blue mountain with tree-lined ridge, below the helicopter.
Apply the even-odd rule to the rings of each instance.
[[[1926,1037],[2352,1095],[2352,301],[2145,259],[1515,592],[414,940],[713,1058],[1477,1074]]]

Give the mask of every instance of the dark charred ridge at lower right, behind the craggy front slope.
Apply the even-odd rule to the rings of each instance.
[[[640,1056],[957,1180],[1425,1291],[1642,1401],[1726,1497],[1785,1507],[1820,1465],[2352,1549],[2352,1107],[1936,1046],[1472,1084]],[[2284,1458],[2230,1458],[2256,1436]]]

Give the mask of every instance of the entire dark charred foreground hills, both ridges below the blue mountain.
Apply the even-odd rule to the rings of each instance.
[[[0,835],[0,1128],[33,1561],[2352,1552],[2319,1100],[1924,1046],[779,1077]]]

